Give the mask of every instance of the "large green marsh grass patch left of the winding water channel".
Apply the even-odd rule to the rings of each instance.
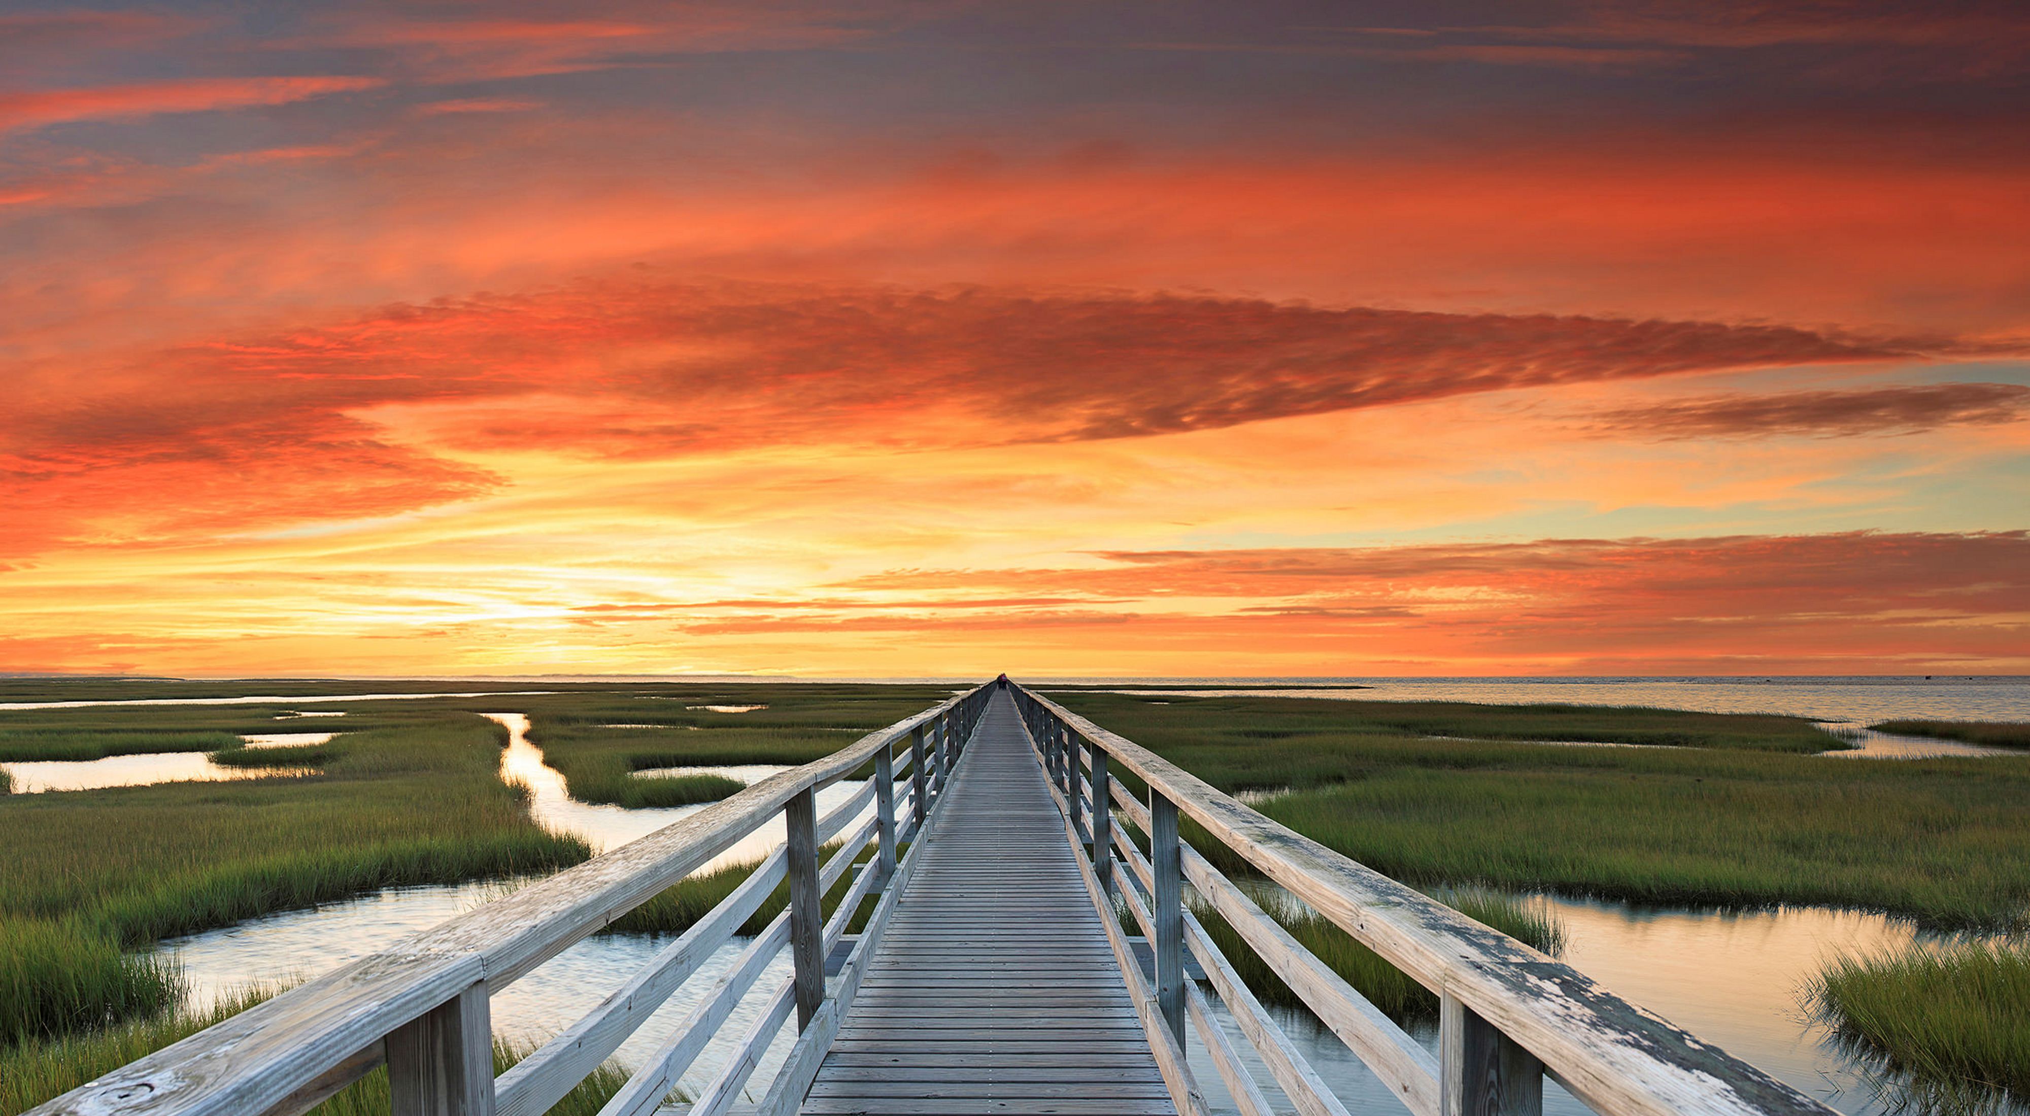
[[[164,1006],[175,976],[124,956],[160,937],[587,858],[499,781],[501,739],[477,716],[418,710],[349,733],[307,777],[0,799],[0,848],[35,850],[0,877],[0,1045]]]

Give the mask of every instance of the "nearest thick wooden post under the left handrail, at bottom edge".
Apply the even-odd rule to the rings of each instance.
[[[485,982],[388,1035],[392,1116],[493,1116],[493,1023]]]

